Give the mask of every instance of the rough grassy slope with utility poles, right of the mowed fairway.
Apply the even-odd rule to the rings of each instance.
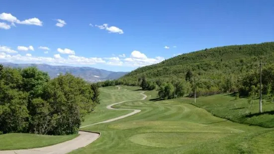
[[[274,103],[272,102],[263,100],[263,112],[259,113],[259,99],[254,100],[253,107],[251,107],[247,98],[235,99],[230,94],[199,97],[196,103],[189,98],[178,98],[178,101],[191,103],[213,115],[234,122],[266,128],[274,127]]]

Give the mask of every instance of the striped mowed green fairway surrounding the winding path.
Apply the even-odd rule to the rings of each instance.
[[[87,116],[92,124],[131,111],[108,110],[109,104],[142,98],[138,87],[101,88],[101,104]],[[274,129],[248,126],[212,116],[181,99],[155,101],[156,91],[146,100],[129,101],[115,108],[142,111],[110,123],[82,128],[101,132],[99,139],[72,154],[271,154]],[[85,123],[82,125],[84,126]],[[258,144],[259,143],[259,144]]]

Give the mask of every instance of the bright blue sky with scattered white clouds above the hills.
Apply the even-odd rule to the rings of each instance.
[[[274,0],[0,0],[0,62],[132,71],[274,41],[273,15]]]

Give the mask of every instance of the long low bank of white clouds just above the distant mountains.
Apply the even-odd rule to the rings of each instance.
[[[22,48],[22,46],[19,46]],[[27,48],[27,47],[25,47]],[[24,47],[22,49],[26,50]],[[62,49],[61,49],[62,50]],[[62,50],[62,52],[66,52],[67,50]],[[50,65],[94,65],[94,64],[105,64],[105,65],[113,65],[113,66],[124,66],[124,67],[143,67],[147,65],[152,65],[156,63],[160,63],[165,60],[163,57],[155,57],[148,58],[144,53],[140,51],[132,51],[129,58],[125,58],[125,54],[110,58],[97,58],[97,57],[81,57],[76,55],[68,55],[67,58],[62,57],[60,54],[55,54],[53,57],[36,57],[31,54],[26,54],[25,56],[21,56],[20,54],[12,55],[13,53],[17,53],[16,51],[6,47],[0,46],[0,60],[4,60],[7,62],[15,62],[15,63],[45,63]],[[48,53],[45,51],[44,53]]]

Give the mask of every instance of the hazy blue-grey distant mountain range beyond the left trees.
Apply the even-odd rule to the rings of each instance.
[[[107,79],[117,79],[129,72],[113,72],[90,67],[71,67],[71,66],[52,66],[47,64],[14,64],[14,63],[0,63],[5,67],[12,68],[26,68],[37,67],[39,70],[47,72],[51,78],[58,77],[60,73],[72,73],[76,77],[82,77],[89,82],[104,81]]]

